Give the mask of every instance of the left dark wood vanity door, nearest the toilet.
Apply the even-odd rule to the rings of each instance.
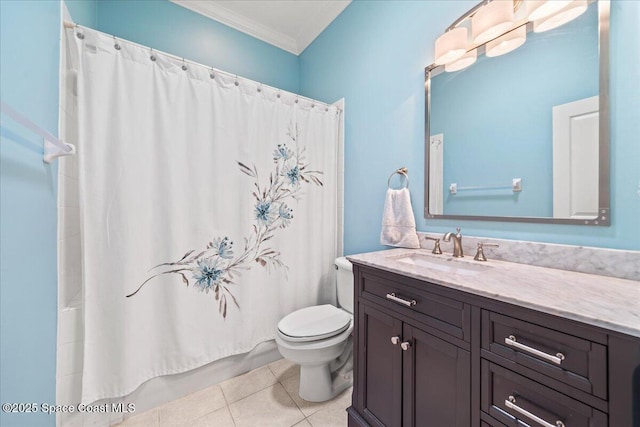
[[[402,338],[402,322],[359,304],[358,409],[372,426],[400,426],[403,352],[399,342],[393,344],[391,338]]]

